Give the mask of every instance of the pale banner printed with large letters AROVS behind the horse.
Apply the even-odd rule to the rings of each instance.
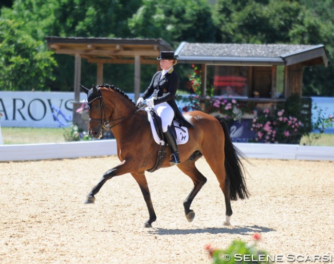
[[[86,99],[81,92],[80,101]],[[68,124],[62,114],[72,120],[73,102],[74,92],[0,91],[1,126],[59,127],[57,118]]]

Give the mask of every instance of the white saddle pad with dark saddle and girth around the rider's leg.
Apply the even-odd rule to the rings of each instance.
[[[157,115],[157,112],[154,109],[148,107],[145,110],[151,123],[153,138],[155,142],[159,144],[159,150],[155,164],[152,168],[147,170],[148,172],[154,172],[161,167],[162,161],[166,155],[167,140],[163,134],[161,118]],[[180,124],[174,120],[171,124],[171,128],[178,145],[188,142],[189,135],[188,129],[186,127],[181,127]],[[178,134],[180,134],[179,137]]]

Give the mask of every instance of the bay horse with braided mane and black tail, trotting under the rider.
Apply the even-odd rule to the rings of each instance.
[[[102,129],[111,129],[117,142],[117,155],[120,164],[106,171],[99,183],[87,195],[85,203],[94,203],[95,195],[103,184],[115,176],[130,173],[143,194],[149,219],[144,227],[151,228],[156,214],[151,201],[145,171],[151,169],[156,161],[159,145],[154,141],[146,111],[138,109],[125,93],[114,85],[92,86],[88,89],[80,84],[87,94],[89,109],[89,134],[101,138]],[[191,203],[207,178],[195,166],[202,156],[219,182],[225,197],[225,225],[230,225],[232,215],[231,200],[248,198],[245,169],[240,158],[243,154],[233,145],[226,123],[205,112],[191,111],[183,114],[194,128],[189,128],[189,140],[179,145],[181,163],[176,166],[193,181],[194,187],[183,201],[184,213],[189,222],[195,213],[190,209]],[[166,148],[166,158],[161,168],[170,167],[171,153]]]

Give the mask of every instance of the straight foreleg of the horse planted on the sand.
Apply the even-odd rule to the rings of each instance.
[[[135,180],[139,184],[141,193],[144,196],[144,200],[145,200],[147,209],[149,210],[150,218],[149,218],[149,220],[147,220],[144,223],[144,227],[145,228],[152,228],[152,223],[155,220],[157,220],[157,216],[154,212],[154,208],[153,208],[153,204],[152,204],[152,200],[151,200],[151,194],[150,194],[150,190],[149,190],[149,185],[147,184],[145,173],[144,172],[132,173],[131,175],[135,178]]]

